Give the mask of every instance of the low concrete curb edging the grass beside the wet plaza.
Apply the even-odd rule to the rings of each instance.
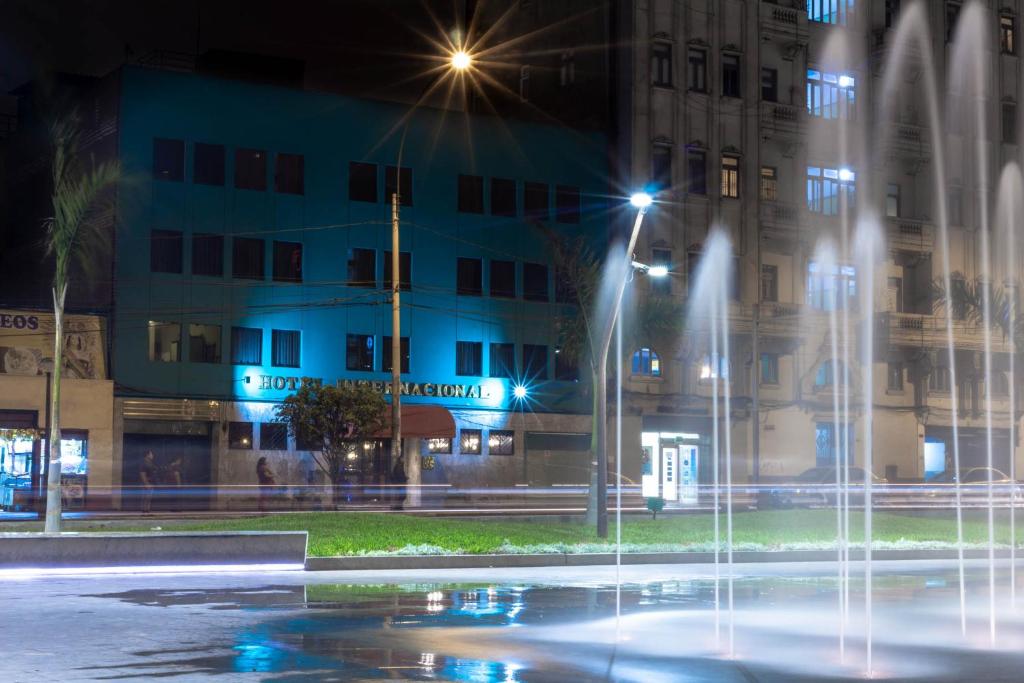
[[[996,557],[1010,557],[1008,549],[995,551]],[[733,561],[738,564],[759,562],[833,562],[833,550],[737,551]],[[985,549],[964,551],[966,559],[985,559]],[[876,550],[873,560],[955,560],[955,550]],[[725,561],[721,554],[720,561]],[[850,551],[850,559],[864,559],[861,550]],[[715,553],[624,553],[623,564],[711,564]],[[307,571],[341,571],[367,569],[480,569],[492,567],[554,567],[596,566],[614,564],[612,553],[546,553],[536,555],[361,555],[345,557],[308,557]]]

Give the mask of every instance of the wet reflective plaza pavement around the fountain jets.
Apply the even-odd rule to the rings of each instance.
[[[623,567],[620,591],[614,567],[6,579],[0,680],[863,678],[862,584],[851,589],[844,665],[833,565],[737,566],[732,620],[724,580],[716,614],[713,571]],[[1024,618],[1008,572],[995,648],[987,571],[972,563],[968,578],[965,638],[950,563],[877,564],[876,677],[1022,680]]]

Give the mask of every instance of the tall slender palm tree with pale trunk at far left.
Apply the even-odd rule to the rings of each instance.
[[[50,126],[53,215],[44,221],[46,251],[53,269],[53,379],[50,392],[49,466],[46,478],[44,530],[60,530],[60,375],[63,370],[63,309],[69,271],[76,261],[83,272],[96,263],[97,248],[106,240],[113,209],[108,190],[121,178],[117,162],[82,159],[78,116],[58,117]],[[87,163],[86,163],[87,161]]]

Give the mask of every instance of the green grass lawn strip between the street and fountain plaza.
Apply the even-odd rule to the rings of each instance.
[[[1005,512],[999,513],[996,541],[1010,541],[1009,521]],[[836,538],[836,513],[830,510],[773,510],[764,512],[738,512],[733,516],[733,536],[738,548],[758,546],[766,549],[793,544],[829,544]],[[725,537],[725,516],[722,537]],[[854,512],[850,519],[852,540],[863,539],[863,516]],[[356,555],[394,552],[413,547],[429,547],[424,552],[501,552],[503,546],[525,550],[548,546],[595,546],[589,551],[599,551],[601,546],[614,544],[614,525],[609,541],[596,537],[593,527],[581,523],[555,521],[516,521],[504,519],[461,519],[419,517],[401,514],[372,512],[310,512],[264,517],[244,517],[214,520],[137,520],[112,525],[109,522],[72,521],[67,530],[147,530],[159,525],[164,530],[305,530],[309,532],[311,556]],[[30,530],[39,524],[4,524],[0,530]],[[882,542],[939,542],[954,543],[956,527],[949,518],[911,516],[879,512],[874,514],[874,540]],[[1024,531],[1018,532],[1018,542]],[[964,538],[968,543],[982,544],[987,540],[987,526],[983,519],[968,519],[964,524]],[[649,517],[630,517],[623,523],[623,543],[630,546],[649,546],[650,549],[670,550],[697,547],[714,540],[714,518],[710,515],[679,515],[652,520]],[[669,548],[668,546],[678,547]],[[632,548],[642,550],[643,548]],[[536,549],[543,550],[543,549]]]

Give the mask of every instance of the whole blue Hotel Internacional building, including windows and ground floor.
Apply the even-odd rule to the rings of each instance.
[[[273,408],[303,378],[389,392],[396,180],[403,404],[456,425],[406,434],[423,482],[587,480],[589,390],[560,361],[565,304],[535,221],[603,243],[602,136],[193,74],[117,79],[123,485],[150,450],[220,507],[256,482],[260,457],[279,484],[324,481]],[[360,445],[353,482],[379,480],[387,440]]]

